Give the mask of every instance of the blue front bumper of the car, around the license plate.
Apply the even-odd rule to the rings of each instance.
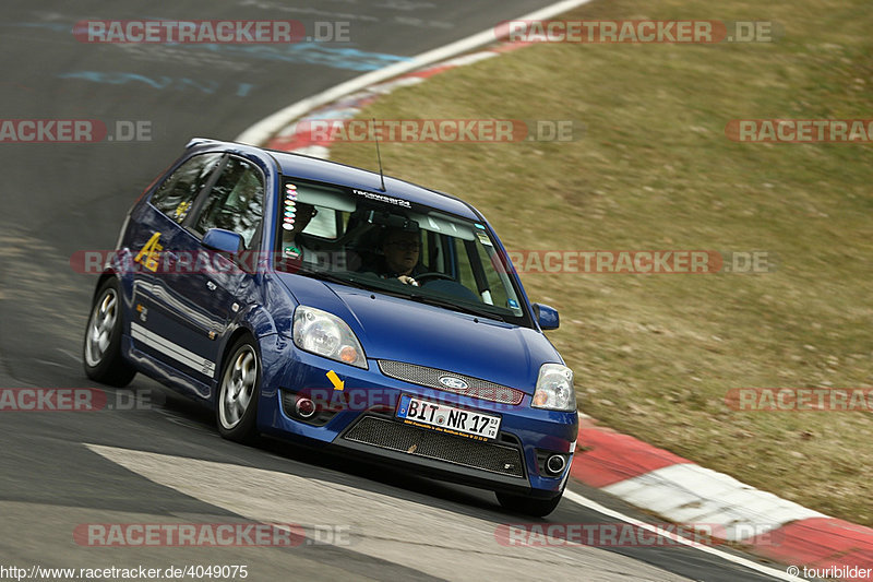
[[[531,408],[529,394],[510,405],[418,385],[384,376],[373,359],[363,370],[301,352],[282,336],[272,337],[283,345],[262,349],[261,432],[492,490],[541,498],[561,491],[578,431],[576,413]],[[331,370],[344,381],[342,391],[327,378]],[[296,395],[313,393],[342,405],[316,421],[296,418]],[[410,426],[394,414],[400,394],[500,415],[500,432],[480,441]],[[545,474],[537,458],[543,451],[565,455],[564,471]]]

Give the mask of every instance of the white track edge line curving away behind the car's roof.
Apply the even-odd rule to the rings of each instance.
[[[530,14],[526,14],[513,20],[550,19],[590,1],[591,0],[563,0],[543,9],[534,11]],[[304,116],[315,107],[334,102],[348,95],[349,93],[355,93],[356,91],[360,91],[369,85],[381,83],[382,81],[386,81],[394,76],[415,71],[416,69],[427,67],[428,64],[432,64],[434,62],[451,59],[456,55],[461,55],[463,52],[467,52],[468,50],[493,43],[497,40],[494,31],[495,27],[488,28],[487,31],[474,34],[467,38],[462,38],[461,40],[450,45],[422,52],[407,61],[391,64],[360,76],[356,76],[355,79],[346,81],[345,83],[340,83],[339,85],[331,87],[327,91],[311,97],[307,97],[306,99],[289,105],[284,109],[279,109],[270,117],[262,119],[258,123],[240,133],[234,141],[252,145],[264,145],[274,133],[298,117]]]

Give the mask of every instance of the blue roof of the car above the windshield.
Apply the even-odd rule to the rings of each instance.
[[[382,189],[382,180],[379,173],[348,166],[338,162],[321,159],[318,157],[280,152],[278,150],[267,150],[253,145],[236,142],[223,142],[205,138],[194,138],[188,143],[191,147],[219,147],[227,152],[248,153],[255,155],[270,155],[276,161],[282,174],[303,180],[333,183],[358,190],[367,190],[388,197],[408,200],[412,203],[423,204],[436,210],[450,212],[458,216],[464,216],[473,221],[482,221],[481,214],[470,204],[459,198],[431,190],[405,180],[385,176],[385,189]]]

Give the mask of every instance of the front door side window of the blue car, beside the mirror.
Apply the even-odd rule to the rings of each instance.
[[[194,228],[205,233],[224,228],[242,235],[246,248],[261,224],[264,207],[264,180],[258,167],[231,157],[210,191]]]

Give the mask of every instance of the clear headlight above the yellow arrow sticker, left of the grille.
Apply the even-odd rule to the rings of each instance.
[[[327,311],[299,306],[294,312],[294,343],[306,352],[367,369],[367,356],[355,333]]]

